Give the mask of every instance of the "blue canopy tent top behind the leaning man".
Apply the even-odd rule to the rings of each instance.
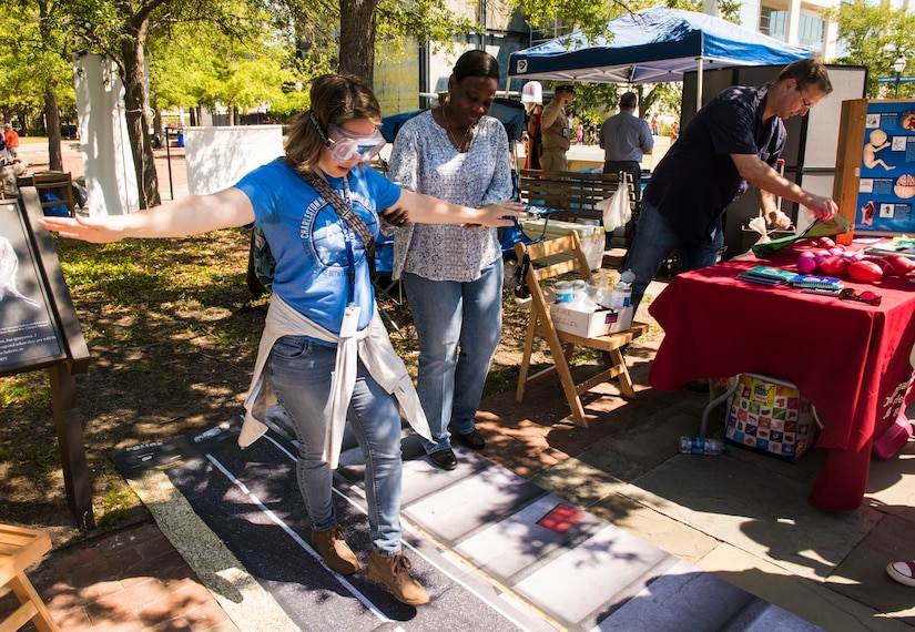
[[[607,23],[612,38],[589,44],[575,31],[511,53],[508,75],[586,83],[664,83],[733,65],[781,65],[810,57],[804,48],[704,13],[654,7]],[[701,101],[698,103],[701,106]]]

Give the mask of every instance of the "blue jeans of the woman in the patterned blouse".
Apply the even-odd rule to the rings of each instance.
[[[416,390],[435,442],[427,453],[450,448],[448,426],[474,431],[489,363],[502,334],[502,262],[468,283],[404,275],[413,322],[419,336]],[[460,347],[460,351],[458,351]]]

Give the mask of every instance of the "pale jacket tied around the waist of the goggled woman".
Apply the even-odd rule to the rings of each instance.
[[[419,404],[419,396],[416,394],[404,361],[390,346],[387,329],[377,309],[365,329],[353,337],[339,338],[336,334],[293,309],[274,294],[271,297],[266,325],[257,348],[257,361],[254,365],[251,388],[245,398],[245,422],[238,435],[238,445],[242,448],[248,447],[267,431],[264,419],[267,406],[275,402],[275,397],[273,397],[270,384],[264,379],[264,367],[273,345],[283,336],[307,336],[316,340],[337,344],[336,365],[331,378],[331,394],[324,408],[328,424],[322,455],[322,460],[329,463],[332,468],[336,469],[339,463],[346,411],[356,385],[357,359],[363,361],[368,373],[386,393],[397,398],[400,415],[410,427],[429,441],[433,440],[429,422]]]

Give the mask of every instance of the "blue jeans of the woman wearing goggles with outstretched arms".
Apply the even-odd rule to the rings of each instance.
[[[295,426],[296,477],[312,529],[337,524],[334,472],[321,460],[328,419],[324,407],[337,350],[305,337],[284,336],[273,346],[266,377]],[[365,497],[372,548],[384,557],[400,552],[400,414],[397,400],[359,363],[347,421],[365,456]]]

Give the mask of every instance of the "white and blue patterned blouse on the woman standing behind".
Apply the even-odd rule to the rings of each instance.
[[[508,135],[498,119],[482,116],[469,151],[459,153],[431,111],[423,112],[400,128],[388,177],[404,188],[474,208],[509,200]],[[429,281],[471,282],[501,256],[496,228],[410,223],[394,238],[393,277],[409,272]]]

